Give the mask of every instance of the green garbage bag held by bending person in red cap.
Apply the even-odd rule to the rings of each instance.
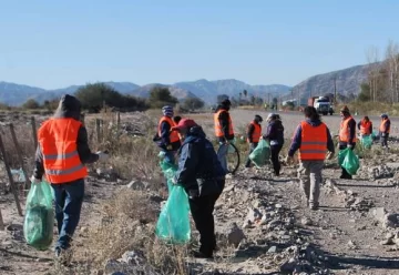
[[[156,236],[172,244],[188,243],[191,236],[188,212],[186,192],[181,185],[173,185],[156,223]]]

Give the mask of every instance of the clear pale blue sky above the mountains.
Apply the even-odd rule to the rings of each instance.
[[[294,85],[399,42],[396,0],[0,0],[0,81]]]

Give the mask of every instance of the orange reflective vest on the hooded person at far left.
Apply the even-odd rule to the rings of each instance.
[[[48,182],[62,184],[88,176],[78,153],[78,133],[82,126],[74,119],[50,119],[38,131]]]

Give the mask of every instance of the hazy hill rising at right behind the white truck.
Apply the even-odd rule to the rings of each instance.
[[[303,100],[309,95],[334,94],[334,82],[336,80],[337,93],[348,96],[360,92],[360,84],[367,81],[369,65],[356,65],[344,70],[317,74],[300,82],[293,88],[294,96],[300,93]]]

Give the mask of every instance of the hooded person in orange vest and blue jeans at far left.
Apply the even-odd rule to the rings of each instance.
[[[103,152],[92,153],[88,144],[88,132],[80,121],[81,103],[65,94],[53,118],[45,121],[38,131],[39,145],[32,184],[42,181],[43,175],[51,184],[55,196],[55,218],[59,238],[55,256],[66,255],[72,236],[79,224],[84,196],[84,164],[106,160]]]

